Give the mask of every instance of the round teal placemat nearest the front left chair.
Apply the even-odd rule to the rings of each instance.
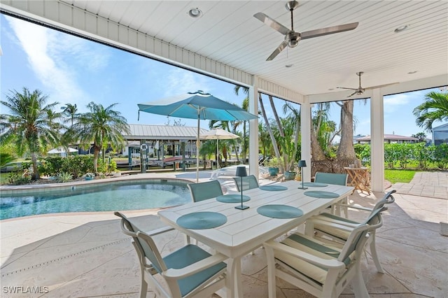
[[[227,217],[218,212],[193,212],[182,215],[177,224],[186,229],[211,229],[227,222]]]

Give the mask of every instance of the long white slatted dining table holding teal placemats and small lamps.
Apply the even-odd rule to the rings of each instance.
[[[275,185],[286,186],[288,189],[282,191],[267,191],[260,188],[244,190],[244,195],[251,198],[244,202],[244,206],[249,207],[245,210],[235,208],[235,206],[241,204],[207,199],[158,212],[162,222],[229,257],[226,286],[228,298],[243,297],[241,286],[242,256],[259,248],[265,241],[275,239],[301,225],[310,216],[321,213],[328,206],[353,192],[351,186],[330,184],[325,187],[308,187],[307,190],[301,190],[297,188],[301,186],[301,183],[295,180],[276,183]],[[304,194],[304,192],[311,190],[334,192],[339,197],[322,199]],[[300,208],[303,215],[297,218],[280,219],[270,218],[258,213],[258,207],[270,204]],[[203,211],[221,213],[227,217],[227,222],[212,229],[186,229],[176,223],[182,215]]]

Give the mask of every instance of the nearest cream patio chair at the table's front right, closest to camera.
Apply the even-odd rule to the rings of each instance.
[[[276,278],[323,298],[338,297],[352,281],[355,297],[368,297],[360,270],[360,257],[368,232],[381,225],[377,210],[365,222],[351,229],[342,248],[300,233],[292,234],[280,243],[267,241],[264,246],[269,298],[276,297]]]

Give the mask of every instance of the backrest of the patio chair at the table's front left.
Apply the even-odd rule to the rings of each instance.
[[[127,218],[123,213],[114,212],[113,214],[121,218],[120,227],[123,233],[132,236],[134,240],[134,247],[137,250],[137,255],[139,255],[140,265],[143,267],[148,267],[146,264],[146,258],[151,262],[153,268],[159,273],[167,270],[167,266],[160,255],[160,252],[155,246],[155,243],[151,236],[141,232],[141,230]],[[137,235],[137,233],[139,235]],[[141,234],[144,234],[143,239]]]

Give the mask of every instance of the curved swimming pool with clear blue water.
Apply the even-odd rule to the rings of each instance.
[[[186,204],[191,195],[179,180],[127,180],[89,187],[74,185],[21,196],[0,194],[0,220],[66,212],[125,211]]]

